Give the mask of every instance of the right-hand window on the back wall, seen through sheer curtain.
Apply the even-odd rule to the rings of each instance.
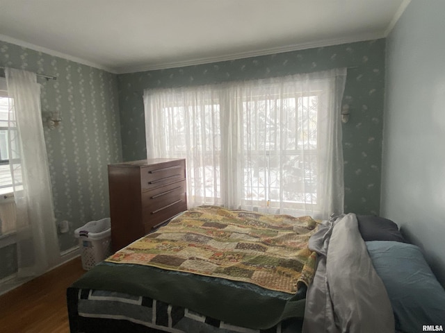
[[[316,95],[243,103],[245,200],[316,204],[317,114]]]

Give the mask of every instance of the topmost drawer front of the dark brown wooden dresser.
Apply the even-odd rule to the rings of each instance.
[[[142,189],[154,189],[172,182],[186,179],[186,164],[184,160],[154,164],[140,171]]]

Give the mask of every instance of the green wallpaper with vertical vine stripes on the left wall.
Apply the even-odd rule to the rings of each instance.
[[[115,74],[0,41],[0,66],[34,71],[42,114],[60,112],[62,122],[44,126],[57,221],[70,232],[59,234],[60,250],[78,244],[74,230],[109,216],[107,164],[122,160],[118,83]]]

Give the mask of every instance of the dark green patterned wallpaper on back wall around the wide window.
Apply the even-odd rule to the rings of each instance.
[[[126,161],[146,157],[143,90],[203,85],[348,67],[343,103],[345,211],[378,214],[385,96],[385,40],[355,42],[205,65],[118,76],[122,151]]]

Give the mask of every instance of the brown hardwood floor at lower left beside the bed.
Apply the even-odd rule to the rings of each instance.
[[[70,332],[66,289],[83,273],[77,257],[0,296],[0,332]]]

